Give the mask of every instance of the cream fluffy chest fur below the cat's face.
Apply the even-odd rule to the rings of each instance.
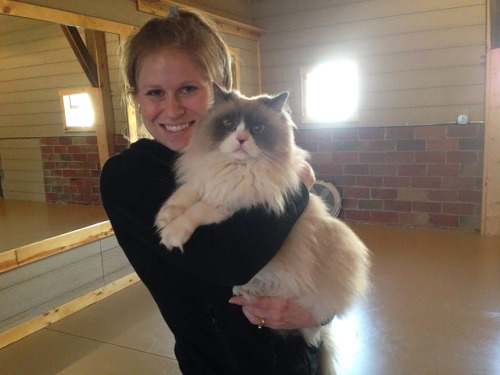
[[[189,148],[177,164],[178,181],[195,187],[200,200],[229,212],[263,204],[280,213],[287,194],[299,188],[307,153],[292,146],[286,158],[236,160],[219,149]]]

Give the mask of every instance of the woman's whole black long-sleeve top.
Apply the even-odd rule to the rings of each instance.
[[[142,139],[110,158],[101,174],[104,208],[117,240],[172,330],[183,374],[314,374],[317,353],[301,337],[257,329],[232,287],[246,283],[279,250],[308,202],[305,186],[277,217],[241,210],[198,228],[184,245],[160,245],[155,216],[175,189],[177,154]]]

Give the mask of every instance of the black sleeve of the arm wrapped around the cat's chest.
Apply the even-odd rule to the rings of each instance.
[[[103,205],[118,242],[127,255],[136,252],[129,259],[141,259],[137,252],[153,251],[193,276],[218,285],[244,284],[267,264],[309,200],[307,188],[302,186],[300,194],[288,199],[283,215],[259,207],[199,227],[182,254],[160,245],[154,227],[155,216],[173,189],[169,168],[164,166],[162,171],[158,165],[132,157],[111,158],[101,174]]]

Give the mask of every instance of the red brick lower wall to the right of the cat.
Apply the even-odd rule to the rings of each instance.
[[[484,126],[299,130],[346,221],[479,231]]]

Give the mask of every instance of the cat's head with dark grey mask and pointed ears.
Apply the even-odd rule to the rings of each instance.
[[[214,107],[203,121],[211,148],[239,162],[279,159],[293,142],[293,123],[283,112],[288,93],[248,99],[214,87]]]

